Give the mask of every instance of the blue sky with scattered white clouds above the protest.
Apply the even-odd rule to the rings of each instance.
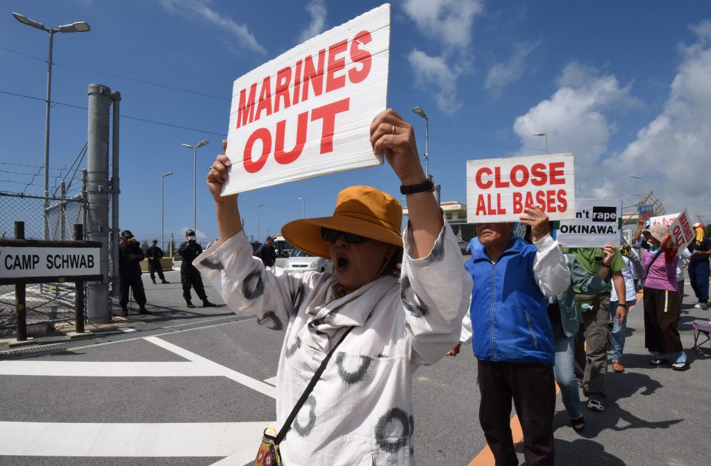
[[[0,11],[1,190],[43,191],[48,34],[20,14],[87,33],[54,39],[50,175],[86,142],[87,86],[122,94],[120,228],[141,239],[217,235],[206,169],[228,130],[232,81],[377,1],[6,0]],[[574,152],[579,197],[653,190],[667,211],[711,223],[711,3],[706,1],[407,0],[392,4],[388,106],[415,125],[442,201],[466,202],[466,161]],[[26,97],[20,97],[26,96]],[[33,98],[31,98],[33,97]],[[142,121],[150,120],[150,122]],[[629,178],[630,174],[642,180]],[[26,186],[27,183],[33,183]],[[50,178],[50,186],[55,179]],[[247,235],[333,211],[338,191],[370,184],[398,198],[388,166],[240,194]],[[75,184],[75,186],[78,186]],[[70,193],[71,194],[71,193]],[[257,206],[263,203],[262,208]]]

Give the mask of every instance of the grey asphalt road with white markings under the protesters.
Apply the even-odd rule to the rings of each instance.
[[[282,334],[255,319],[233,322],[224,306],[187,309],[178,273],[166,277],[171,284],[152,285],[144,275],[153,315],[119,319],[123,329],[100,333],[124,339],[0,359],[0,464],[251,463],[261,430],[274,420]],[[208,297],[222,303],[210,288]],[[556,464],[711,465],[711,349],[690,349],[691,322],[707,322],[711,312],[692,304],[687,296],[679,326],[690,370],[648,363],[639,304],[629,316],[627,369],[607,374],[604,412],[583,408],[582,435],[570,428],[558,397]],[[38,339],[67,341],[57,333]],[[468,465],[486,446],[475,369],[465,346],[415,374],[419,465]]]

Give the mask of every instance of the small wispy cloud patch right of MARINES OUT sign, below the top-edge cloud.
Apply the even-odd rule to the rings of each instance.
[[[432,57],[422,51],[413,50],[407,55],[410,65],[415,70],[415,85],[422,88],[435,86],[439,88],[434,92],[437,107],[446,113],[459,109],[461,103],[456,98],[456,78],[461,73],[458,67],[452,68],[444,57]]]

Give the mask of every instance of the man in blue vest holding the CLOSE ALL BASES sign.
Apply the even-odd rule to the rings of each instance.
[[[497,465],[518,465],[510,430],[511,399],[523,430],[528,465],[553,465],[555,341],[548,298],[567,289],[570,270],[548,216],[526,208],[533,244],[517,240],[513,223],[479,223],[466,268],[471,291],[472,346],[478,360],[479,423]]]

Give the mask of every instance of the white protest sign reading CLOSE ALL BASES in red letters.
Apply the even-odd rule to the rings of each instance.
[[[466,161],[467,222],[515,222],[527,206],[575,217],[573,154]]]

